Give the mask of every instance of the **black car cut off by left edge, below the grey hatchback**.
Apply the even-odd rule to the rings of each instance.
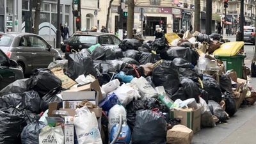
[[[0,90],[17,79],[24,79],[23,72],[17,66],[17,62],[10,60],[0,49]]]

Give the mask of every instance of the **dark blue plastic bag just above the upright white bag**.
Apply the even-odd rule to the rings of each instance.
[[[115,104],[120,104],[120,102],[116,94],[111,93],[100,102],[99,107],[102,108],[104,111],[109,111],[109,109],[115,106]]]

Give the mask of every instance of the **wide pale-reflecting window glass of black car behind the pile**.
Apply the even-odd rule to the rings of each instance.
[[[97,36],[74,35],[70,38],[71,43],[97,44]]]

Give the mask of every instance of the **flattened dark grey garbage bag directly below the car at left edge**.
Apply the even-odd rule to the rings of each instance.
[[[23,93],[31,88],[33,79],[18,79],[0,91],[0,97],[8,93]]]

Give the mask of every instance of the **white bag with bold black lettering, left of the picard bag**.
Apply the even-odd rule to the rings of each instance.
[[[64,144],[64,134],[61,125],[57,127],[47,125],[41,129],[39,144]]]

